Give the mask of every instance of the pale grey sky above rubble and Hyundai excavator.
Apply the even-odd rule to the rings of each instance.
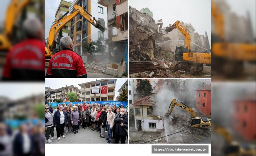
[[[154,20],[163,20],[163,27],[177,20],[190,23],[195,32],[205,35],[211,44],[211,0],[129,0],[137,10],[148,7]]]

